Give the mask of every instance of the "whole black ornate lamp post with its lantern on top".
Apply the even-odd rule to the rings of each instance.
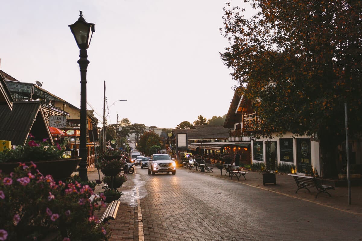
[[[87,48],[94,33],[94,23],[88,23],[83,18],[82,11],[79,11],[78,20],[68,25],[74,35],[77,46],[79,47],[78,60],[80,68],[80,138],[79,151],[81,161],[79,163],[79,177],[82,181],[88,181],[87,176]]]

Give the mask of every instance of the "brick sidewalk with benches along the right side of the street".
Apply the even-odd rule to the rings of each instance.
[[[214,165],[206,163],[208,167],[213,167],[212,171],[214,172],[200,172],[194,169],[188,170],[190,172],[195,172],[196,174],[209,175],[218,178],[224,178],[230,180],[229,175],[225,176],[225,170],[223,170],[223,176],[221,172]],[[184,169],[183,167],[179,167]],[[186,169],[185,169],[186,170]],[[300,189],[298,193],[295,193],[297,190],[296,183],[294,178],[286,174],[278,173],[276,175],[277,185],[266,184],[263,185],[263,176],[260,172],[248,171],[245,175],[247,180],[244,180],[244,177],[240,177],[240,180],[237,180],[236,176],[232,177],[231,181],[240,182],[241,185],[249,185],[255,188],[272,191],[281,195],[286,195],[292,198],[302,199],[308,202],[317,203],[319,205],[331,207],[340,211],[353,213],[356,215],[362,215],[362,186],[353,186],[351,188],[351,201],[352,205],[348,205],[348,188],[347,187],[336,187],[335,190],[328,190],[331,197],[328,194],[320,193],[317,198],[317,190],[315,188],[308,188],[311,193],[308,193],[307,189]]]

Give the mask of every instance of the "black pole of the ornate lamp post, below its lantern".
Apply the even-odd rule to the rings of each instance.
[[[82,181],[88,181],[87,176],[87,50],[79,51],[78,64],[80,67],[80,157],[79,177]]]

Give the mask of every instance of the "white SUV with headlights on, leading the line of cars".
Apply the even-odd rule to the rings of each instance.
[[[168,154],[153,154],[148,161],[148,174],[155,175],[157,172],[166,172],[176,174],[175,159]]]

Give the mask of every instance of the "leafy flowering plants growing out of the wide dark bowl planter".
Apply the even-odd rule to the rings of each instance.
[[[30,134],[30,138],[24,146],[18,146],[16,149],[5,149],[0,152],[1,162],[30,162],[30,161],[47,161],[63,159],[65,150],[64,143],[59,145],[51,145],[48,139],[42,142],[34,141],[34,136]]]

